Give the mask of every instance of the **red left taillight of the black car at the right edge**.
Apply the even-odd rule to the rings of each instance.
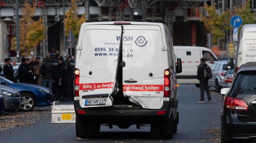
[[[232,110],[243,110],[248,111],[249,108],[243,99],[226,96],[225,108]]]

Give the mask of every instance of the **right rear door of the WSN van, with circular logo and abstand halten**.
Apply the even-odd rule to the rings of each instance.
[[[164,70],[168,62],[162,47],[159,26],[124,25],[123,93],[143,108],[160,109],[163,105]]]

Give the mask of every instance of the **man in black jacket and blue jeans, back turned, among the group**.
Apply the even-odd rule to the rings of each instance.
[[[43,76],[43,86],[52,90],[52,82],[54,79],[54,65],[50,62],[51,57],[46,56],[46,62],[40,67],[40,74]]]

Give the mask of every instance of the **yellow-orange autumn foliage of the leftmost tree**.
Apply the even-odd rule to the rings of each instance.
[[[35,6],[29,5],[28,0],[25,1],[22,7],[22,19],[20,20],[20,54],[28,56],[30,51],[33,51],[36,46],[45,38],[44,32],[46,28],[40,18],[38,21],[33,20],[36,11]],[[16,50],[16,37],[12,38],[11,49]]]

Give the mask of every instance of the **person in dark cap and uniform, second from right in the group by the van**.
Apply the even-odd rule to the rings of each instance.
[[[60,64],[60,75],[59,75],[59,80],[60,80],[60,100],[65,100],[66,99],[66,73],[65,73],[65,67],[66,67],[66,63],[64,62],[64,59],[61,55],[59,55],[58,57],[58,61]]]

